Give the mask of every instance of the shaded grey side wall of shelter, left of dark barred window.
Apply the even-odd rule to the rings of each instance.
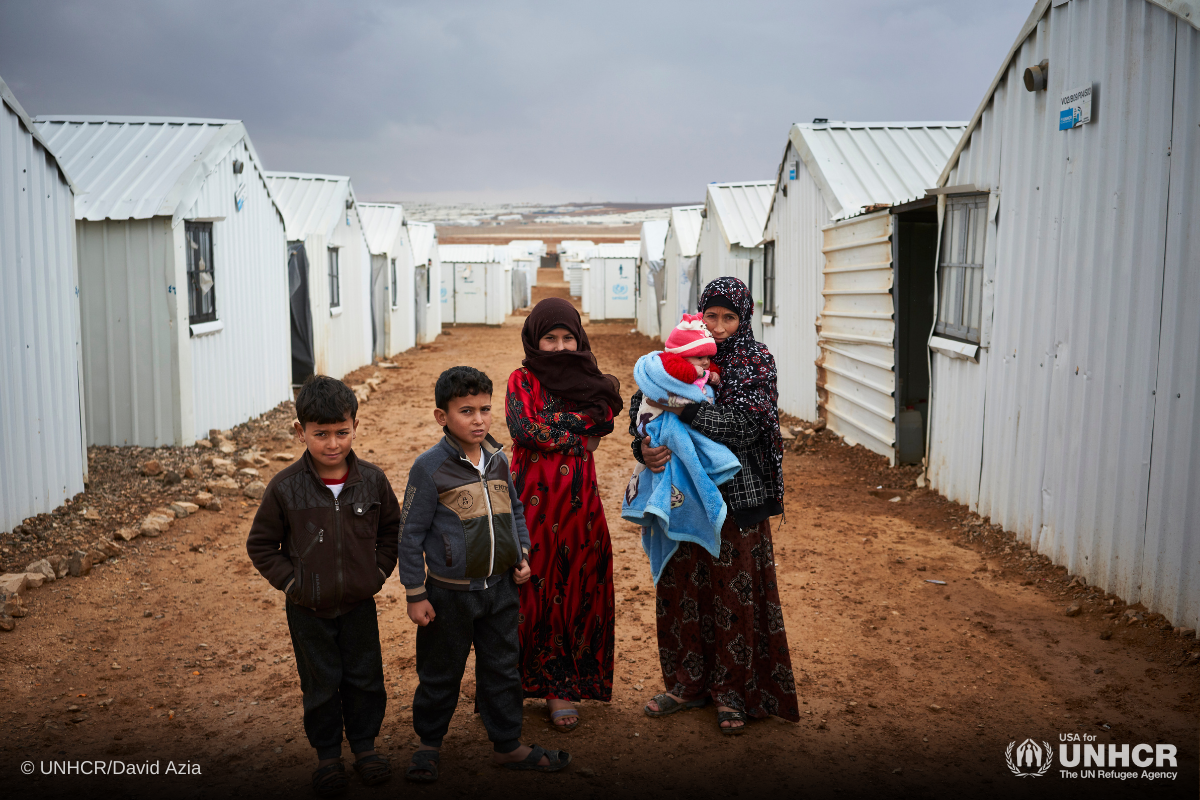
[[[170,217],[79,221],[76,235],[88,444],[173,445]]]

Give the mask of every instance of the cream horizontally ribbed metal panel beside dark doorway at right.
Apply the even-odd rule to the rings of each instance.
[[[895,463],[892,215],[824,229],[817,391],[829,429]]]

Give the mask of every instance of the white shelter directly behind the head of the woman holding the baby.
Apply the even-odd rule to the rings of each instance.
[[[755,301],[754,335],[762,339],[762,230],[775,181],[709,184],[701,212],[698,290],[722,276],[739,278]]]

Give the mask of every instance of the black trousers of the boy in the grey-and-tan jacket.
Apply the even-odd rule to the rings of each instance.
[[[426,584],[436,614],[416,628],[413,728],[428,747],[440,747],[458,706],[467,656],[475,646],[475,699],[498,753],[521,746],[521,690],[517,625],[521,601],[512,575],[482,591],[455,591]]]

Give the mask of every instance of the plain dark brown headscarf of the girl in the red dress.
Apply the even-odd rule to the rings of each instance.
[[[574,333],[578,349],[557,353],[539,350],[538,342],[556,327]],[[588,335],[583,332],[580,312],[566,300],[546,297],[534,306],[521,329],[521,344],[526,351],[521,363],[546,391],[560,399],[571,401],[593,421],[604,421],[608,416],[608,409],[612,409],[616,417],[625,407],[620,399],[620,381],[614,375],[600,372]]]

